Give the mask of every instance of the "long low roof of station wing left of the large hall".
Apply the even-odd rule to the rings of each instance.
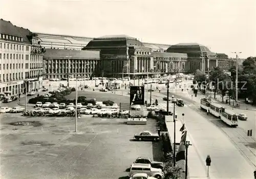
[[[65,49],[46,49],[44,58],[82,58],[82,59],[100,59],[99,51],[80,51]]]

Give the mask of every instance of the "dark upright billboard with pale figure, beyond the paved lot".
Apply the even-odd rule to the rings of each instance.
[[[130,104],[144,105],[144,86],[130,86]]]

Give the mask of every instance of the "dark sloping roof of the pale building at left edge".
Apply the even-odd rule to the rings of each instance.
[[[10,21],[6,21],[2,18],[0,19],[0,33],[16,37],[22,37],[22,34],[20,34],[17,28]]]

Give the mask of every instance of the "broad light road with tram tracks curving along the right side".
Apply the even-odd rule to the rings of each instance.
[[[252,178],[255,169],[255,140],[247,137],[247,132],[242,128],[230,128],[214,116],[207,116],[205,111],[200,109],[199,103],[191,101],[185,93],[170,93],[170,97],[175,95],[176,98],[184,100],[185,106],[175,106],[175,111],[181,121],[182,114],[185,115],[184,122],[190,133],[190,139],[194,141],[203,163],[207,154],[210,154],[212,160],[210,177]],[[166,103],[162,100],[166,93],[153,92],[152,95],[161,105]],[[169,109],[173,110],[173,104],[170,104]],[[188,156],[188,159],[189,157],[191,156]],[[193,173],[193,164],[190,164],[189,172],[190,177],[197,176]]]

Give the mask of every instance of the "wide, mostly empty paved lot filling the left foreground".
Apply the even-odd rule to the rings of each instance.
[[[37,120],[41,124],[33,124]],[[23,126],[9,123],[27,121]],[[127,178],[138,156],[161,160],[160,142],[133,141],[141,130],[156,132],[156,122],[126,125],[126,119],[83,115],[74,118],[1,114],[3,178]]]

